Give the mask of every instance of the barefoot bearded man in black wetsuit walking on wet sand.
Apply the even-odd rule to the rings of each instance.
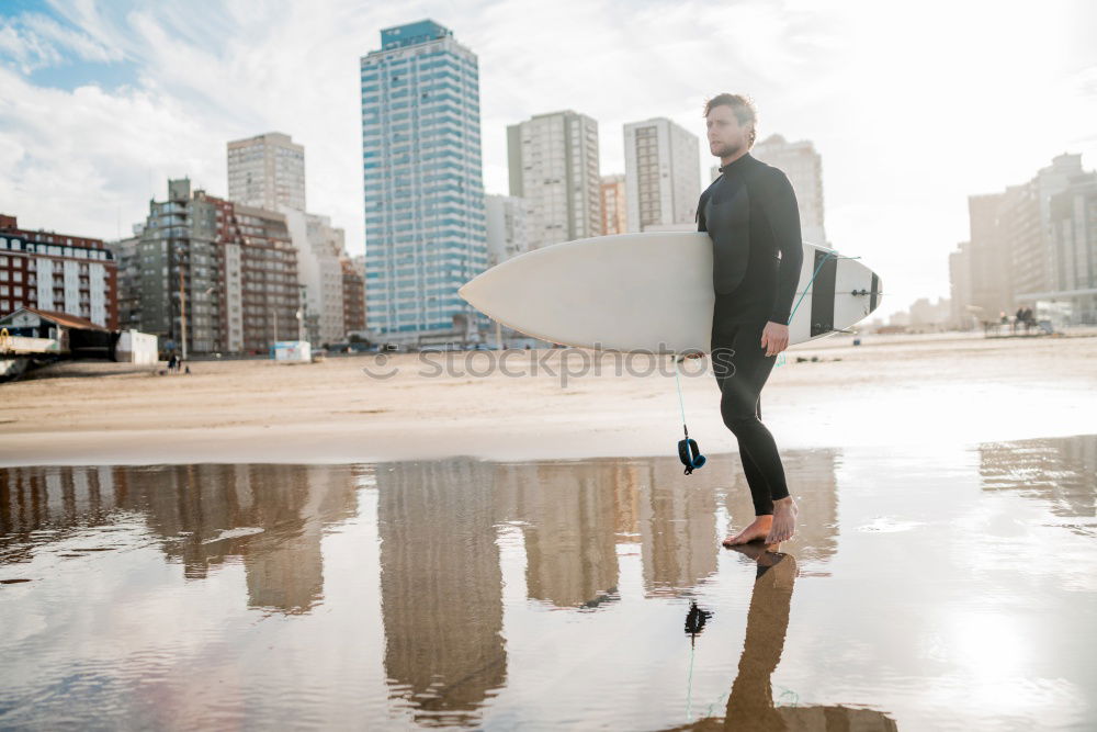
[[[721,176],[698,202],[698,230],[712,238],[713,372],[720,413],[739,443],[755,519],[724,545],[792,537],[796,503],[769,429],[761,388],[789,346],[789,316],[803,264],[800,210],[788,177],[749,153],[757,116],[748,99],[719,94],[704,109]],[[780,259],[778,258],[780,256]]]

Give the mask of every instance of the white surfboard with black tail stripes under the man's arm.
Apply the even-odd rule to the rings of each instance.
[[[709,352],[712,239],[703,232],[648,232],[556,244],[508,259],[457,292],[499,323],[555,344]],[[875,272],[804,244],[790,345],[848,328],[880,300]]]

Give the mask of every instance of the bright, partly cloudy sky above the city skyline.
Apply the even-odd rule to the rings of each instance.
[[[305,146],[308,209],[364,250],[359,59],[430,19],[478,57],[484,184],[507,193],[506,127],[570,109],[665,116],[701,138],[706,99],[749,94],[759,139],[823,158],[829,244],[884,282],[881,314],[949,294],[968,196],[1063,153],[1097,167],[1097,3],[878,0],[0,2],[0,213],[128,235],[168,178],[227,193],[225,145]]]

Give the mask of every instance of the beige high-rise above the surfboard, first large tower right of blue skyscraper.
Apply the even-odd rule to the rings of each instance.
[[[573,110],[507,126],[510,194],[525,200],[530,248],[602,233],[598,122]]]

